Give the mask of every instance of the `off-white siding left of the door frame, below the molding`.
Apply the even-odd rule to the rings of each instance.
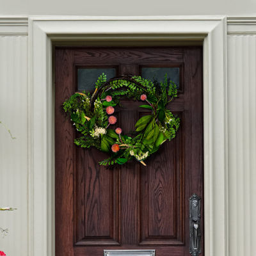
[[[0,250],[6,255],[28,255],[28,38],[0,34]]]

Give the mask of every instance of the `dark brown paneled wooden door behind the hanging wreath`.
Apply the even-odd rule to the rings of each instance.
[[[105,249],[189,255],[189,197],[199,195],[204,208],[202,47],[56,47],[55,57],[56,256],[102,256]],[[97,68],[111,76],[178,68],[179,97],[168,108],[180,116],[180,128],[147,166],[106,168],[98,164],[106,154],[74,145],[77,134],[62,104]],[[122,103],[117,125],[127,133],[147,109]]]

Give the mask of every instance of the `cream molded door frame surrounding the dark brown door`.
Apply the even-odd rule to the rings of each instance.
[[[29,256],[55,255],[52,46],[77,41],[203,45],[205,256],[228,255],[226,35],[223,16],[29,17]]]

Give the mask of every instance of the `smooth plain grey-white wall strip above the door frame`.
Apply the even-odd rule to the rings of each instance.
[[[0,15],[243,15],[254,0],[1,0]]]

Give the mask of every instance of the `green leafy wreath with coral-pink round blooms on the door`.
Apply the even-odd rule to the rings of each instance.
[[[111,129],[116,124],[115,106],[120,98],[127,97],[145,102],[150,115],[142,116],[135,124],[133,137],[122,133],[122,128]],[[180,119],[166,109],[168,102],[177,97],[177,86],[164,76],[163,83],[140,76],[122,76],[107,81],[103,73],[95,83],[95,91],[76,92],[63,103],[74,127],[82,136],[74,143],[82,148],[96,147],[109,154],[99,164],[124,164],[131,159],[140,161],[157,152],[166,140],[175,138]]]

